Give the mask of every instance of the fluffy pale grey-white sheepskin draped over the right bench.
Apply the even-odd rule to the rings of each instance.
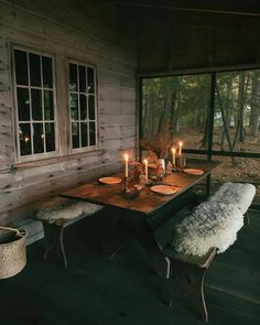
[[[236,241],[254,193],[251,184],[224,184],[209,201],[198,205],[175,226],[169,248],[176,253],[198,257],[213,247],[218,253],[224,252]]]

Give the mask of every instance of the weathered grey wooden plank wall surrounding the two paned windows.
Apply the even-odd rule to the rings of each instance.
[[[109,2],[109,3],[108,3]],[[108,6],[109,4],[109,6]],[[121,165],[136,147],[136,44],[113,1],[0,0],[0,225],[26,216],[33,203]],[[55,55],[58,123],[67,111],[67,57],[97,66],[99,150],[18,164],[13,131],[11,44]]]

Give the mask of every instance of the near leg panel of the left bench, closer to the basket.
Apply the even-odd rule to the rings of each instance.
[[[67,268],[67,258],[63,243],[63,226],[43,221],[45,240],[44,259],[47,258],[50,251],[54,251],[58,257],[62,257],[64,267]]]

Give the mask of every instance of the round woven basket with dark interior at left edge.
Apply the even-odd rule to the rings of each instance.
[[[0,227],[0,279],[18,274],[26,264],[26,231]]]

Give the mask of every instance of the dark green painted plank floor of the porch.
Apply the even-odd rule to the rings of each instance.
[[[188,301],[164,304],[166,283],[130,240],[105,259],[86,240],[87,220],[65,229],[69,266],[43,260],[43,241],[28,247],[28,264],[0,280],[0,324],[172,325],[203,324]],[[167,225],[156,234],[165,239]],[[87,234],[89,235],[89,234]],[[260,324],[260,213],[237,242],[216,257],[206,274],[208,324]]]

